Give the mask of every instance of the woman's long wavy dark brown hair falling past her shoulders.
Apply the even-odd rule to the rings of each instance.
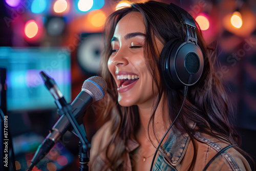
[[[101,76],[108,84],[108,99],[105,98],[105,110],[103,113],[111,113],[111,141],[104,149],[104,155],[108,160],[108,165],[104,168],[112,170],[121,170],[123,160],[128,153],[125,145],[128,139],[135,139],[135,132],[139,127],[139,113],[136,105],[123,107],[118,104],[117,86],[108,70],[108,60],[111,55],[111,38],[113,37],[115,27],[119,20],[126,14],[138,11],[142,14],[145,25],[145,43],[144,58],[146,59],[147,69],[151,72],[152,78],[156,84],[158,96],[156,104],[153,106],[153,114],[148,129],[152,125],[154,130],[154,115],[160,99],[164,96],[167,99],[168,112],[164,113],[164,117],[168,118],[168,122],[175,119],[180,106],[183,102],[183,91],[167,89],[161,74],[160,54],[156,49],[156,40],[158,38],[163,45],[173,38],[185,38],[186,30],[181,25],[176,14],[169,9],[167,4],[149,1],[146,3],[136,3],[131,7],[123,8],[113,12],[106,20],[104,30],[104,53],[101,60]],[[183,28],[183,29],[180,29]],[[185,100],[180,116],[176,120],[174,126],[182,133],[188,134],[195,146],[195,132],[205,133],[211,137],[237,144],[234,146],[240,153],[245,154],[239,146],[241,139],[233,126],[233,115],[229,109],[228,99],[220,80],[215,72],[216,51],[206,45],[201,31],[196,29],[198,37],[198,45],[204,55],[204,69],[200,80],[192,87],[189,87],[187,98]],[[160,78],[160,79],[159,79]],[[189,123],[196,123],[197,129],[188,126]],[[165,123],[166,125],[167,123]],[[150,134],[150,132],[148,132]],[[152,135],[149,135],[152,137]],[[115,150],[111,151],[111,146],[115,146]],[[188,170],[192,169],[196,153]],[[92,167],[94,166],[93,163]]]

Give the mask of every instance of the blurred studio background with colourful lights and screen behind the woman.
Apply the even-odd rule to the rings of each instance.
[[[6,90],[3,111],[8,114],[17,170],[28,169],[36,148],[59,118],[39,72],[55,79],[72,102],[83,81],[97,75],[106,17],[136,2],[143,1],[1,0],[0,90],[1,94]],[[256,1],[161,2],[187,10],[196,18],[207,44],[217,48],[217,74],[232,101],[242,148],[255,159]],[[2,98],[0,104],[3,108]],[[89,141],[103,122],[95,109],[88,110],[84,124]],[[67,132],[37,165],[38,170],[77,170],[78,141]]]

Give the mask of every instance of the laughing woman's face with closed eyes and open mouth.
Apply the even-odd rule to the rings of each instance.
[[[143,46],[145,26],[140,12],[126,14],[117,24],[111,40],[112,54],[108,68],[117,84],[122,106],[151,105],[155,83],[147,70]],[[158,41],[159,42],[159,41]],[[157,44],[158,49],[163,46]]]

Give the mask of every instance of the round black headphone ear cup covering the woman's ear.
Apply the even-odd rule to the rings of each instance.
[[[203,72],[203,53],[193,44],[172,39],[161,55],[162,73],[168,88],[177,89],[194,85]]]

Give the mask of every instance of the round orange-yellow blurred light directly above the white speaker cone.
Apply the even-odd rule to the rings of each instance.
[[[106,16],[101,10],[93,11],[89,14],[89,22],[94,27],[101,27],[105,24]]]

